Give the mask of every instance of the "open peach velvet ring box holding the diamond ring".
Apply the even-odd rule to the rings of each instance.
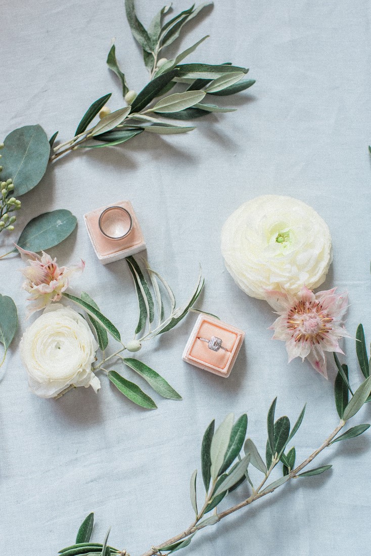
[[[201,314],[185,346],[182,359],[215,375],[230,375],[245,332]]]

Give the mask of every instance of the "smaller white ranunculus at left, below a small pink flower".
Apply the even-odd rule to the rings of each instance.
[[[97,349],[82,316],[61,304],[49,305],[19,345],[29,389],[41,398],[54,398],[72,384],[97,391],[101,384],[91,370]]]

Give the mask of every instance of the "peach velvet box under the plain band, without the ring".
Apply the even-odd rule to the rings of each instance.
[[[102,212],[111,206],[122,207],[126,209],[132,219],[132,227],[130,232],[122,239],[110,239],[102,234],[99,227],[99,219]],[[119,201],[100,207],[84,215],[86,229],[96,255],[103,265],[108,262],[118,261],[130,255],[134,255],[139,251],[146,249],[144,237],[130,201]]]

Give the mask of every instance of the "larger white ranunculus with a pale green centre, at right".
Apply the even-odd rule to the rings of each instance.
[[[225,266],[246,294],[297,294],[318,287],[332,262],[327,224],[293,197],[263,195],[241,205],[221,232]],[[268,300],[269,301],[269,300]]]

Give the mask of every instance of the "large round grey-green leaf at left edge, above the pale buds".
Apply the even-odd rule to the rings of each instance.
[[[50,143],[43,128],[19,127],[6,136],[1,151],[1,180],[13,180],[14,196],[31,191],[43,177],[50,157]]]

